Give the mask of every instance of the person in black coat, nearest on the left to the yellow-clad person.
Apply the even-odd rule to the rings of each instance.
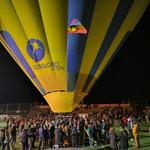
[[[119,149],[128,150],[128,132],[122,128],[119,136]]]

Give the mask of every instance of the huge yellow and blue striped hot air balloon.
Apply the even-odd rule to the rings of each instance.
[[[0,41],[54,112],[71,112],[149,0],[0,0]]]

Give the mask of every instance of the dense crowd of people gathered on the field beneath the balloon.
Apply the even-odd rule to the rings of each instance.
[[[110,144],[112,150],[127,150],[129,139],[139,148],[140,121],[149,122],[150,118],[147,112],[138,114],[121,107],[99,108],[95,112],[89,108],[85,116],[79,114],[80,109],[64,115],[34,107],[26,117],[9,118],[7,127],[0,130],[1,149],[15,149],[16,139],[22,150],[105,144]],[[114,125],[121,126],[119,135]]]

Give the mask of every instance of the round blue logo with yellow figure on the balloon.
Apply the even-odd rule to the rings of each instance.
[[[27,52],[29,56],[35,61],[39,62],[43,59],[45,55],[44,45],[40,40],[37,39],[30,39],[27,42]]]

